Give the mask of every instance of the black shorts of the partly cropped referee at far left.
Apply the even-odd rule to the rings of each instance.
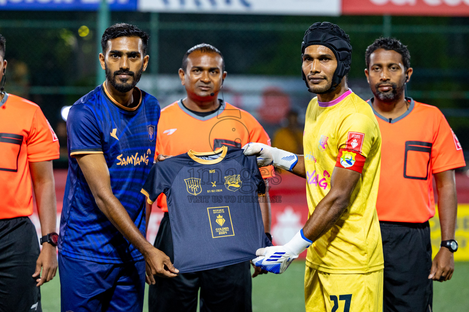
[[[32,277],[38,256],[30,218],[0,219],[0,312],[42,311],[41,292]]]

